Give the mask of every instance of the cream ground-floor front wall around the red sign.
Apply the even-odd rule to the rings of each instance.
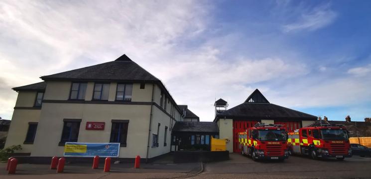
[[[62,156],[58,146],[63,119],[82,119],[78,142],[110,142],[112,119],[129,120],[126,147],[120,148],[120,158],[145,156],[147,148],[150,105],[63,104],[44,103],[31,156]],[[86,130],[86,122],[105,122],[104,131]]]

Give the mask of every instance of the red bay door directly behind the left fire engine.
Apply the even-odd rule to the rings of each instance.
[[[243,121],[243,120],[233,120],[233,152],[241,153],[239,133],[246,132],[248,128],[251,128],[259,121]]]

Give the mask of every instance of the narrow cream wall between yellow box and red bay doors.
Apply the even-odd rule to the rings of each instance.
[[[233,120],[232,119],[219,119],[219,138],[228,139],[227,150],[233,153]]]

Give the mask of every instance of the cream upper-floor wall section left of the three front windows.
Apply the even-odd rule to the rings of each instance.
[[[44,100],[68,100],[70,90],[71,81],[47,81]]]

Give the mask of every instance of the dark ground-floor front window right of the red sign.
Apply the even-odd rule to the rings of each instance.
[[[126,147],[127,120],[112,120],[110,143],[120,143],[120,147]]]

